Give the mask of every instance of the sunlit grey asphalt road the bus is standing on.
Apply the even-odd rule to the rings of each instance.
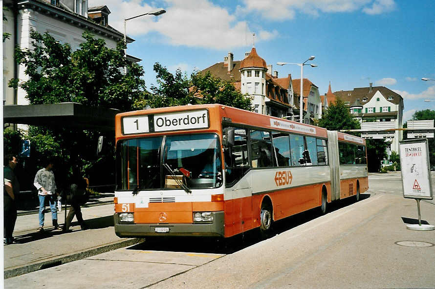
[[[370,193],[319,216],[276,223],[276,235],[149,239],[61,266],[6,279],[5,288],[435,288],[435,231],[412,231],[414,200],[400,174],[370,176]],[[435,224],[434,205],[422,218]],[[402,242],[402,243],[401,243]],[[405,246],[403,246],[405,245]]]

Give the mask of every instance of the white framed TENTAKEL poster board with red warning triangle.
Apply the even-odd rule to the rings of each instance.
[[[403,197],[433,199],[427,139],[400,142]]]

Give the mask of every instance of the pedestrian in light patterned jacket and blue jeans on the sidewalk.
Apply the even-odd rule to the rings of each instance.
[[[40,169],[35,176],[33,185],[38,190],[39,197],[39,228],[38,232],[44,229],[44,210],[45,199],[48,200],[48,204],[51,210],[51,219],[55,230],[60,229],[57,222],[57,195],[56,195],[56,182],[54,180],[53,173],[54,161],[48,159],[45,162],[45,167]]]

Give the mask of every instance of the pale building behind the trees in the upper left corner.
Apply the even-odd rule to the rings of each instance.
[[[124,39],[123,33],[109,26],[108,7],[88,8],[87,0],[3,0],[3,5],[8,8],[3,11],[7,18],[3,21],[3,31],[11,33],[3,43],[3,103],[6,105],[29,103],[25,91],[8,87],[8,82],[13,78],[19,78],[20,82],[28,80],[24,67],[15,64],[14,47],[32,48],[32,29],[41,34],[48,32],[57,41],[69,43],[72,50],[85,42],[82,38],[85,30],[105,40],[109,48],[115,48],[117,42]],[[127,42],[132,41],[127,38]],[[130,60],[140,61],[134,57]]]

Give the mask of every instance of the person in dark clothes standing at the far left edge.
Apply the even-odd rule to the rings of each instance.
[[[11,154],[3,158],[3,243],[5,245],[18,243],[12,236],[17,221],[16,197],[20,192],[20,184],[14,174],[17,158]]]

